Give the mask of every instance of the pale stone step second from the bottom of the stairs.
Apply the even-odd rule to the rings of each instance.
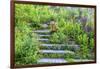
[[[66,50],[40,50],[40,53],[56,53],[56,54],[74,54],[72,51],[66,51]]]

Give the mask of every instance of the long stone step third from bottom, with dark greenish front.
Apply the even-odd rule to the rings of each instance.
[[[79,45],[66,45],[66,44],[41,44],[41,49],[47,50],[71,50],[76,51],[80,49]]]

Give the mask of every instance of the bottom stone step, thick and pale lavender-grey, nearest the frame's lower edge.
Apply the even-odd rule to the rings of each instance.
[[[63,58],[41,58],[37,62],[39,63],[66,63],[67,61]]]

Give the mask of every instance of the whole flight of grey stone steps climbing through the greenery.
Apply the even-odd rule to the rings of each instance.
[[[45,27],[46,26],[46,27]],[[72,50],[65,50],[65,47],[71,47],[74,49],[79,49],[79,45],[74,44],[74,45],[65,45],[65,44],[53,44],[50,43],[49,38],[51,36],[50,30],[47,27],[48,25],[44,24],[43,29],[41,30],[35,30],[34,32],[38,34],[39,40],[42,44],[40,45],[42,49],[40,49],[39,53],[40,54],[60,54],[60,55],[67,55],[71,54],[74,55],[75,52]],[[45,49],[46,48],[46,49]],[[75,62],[77,61],[82,61],[80,59],[75,59]],[[57,57],[57,58],[51,58],[51,57],[43,57],[37,60],[38,63],[67,63],[68,61],[65,60],[63,57]]]

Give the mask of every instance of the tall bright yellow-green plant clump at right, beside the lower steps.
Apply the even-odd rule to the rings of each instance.
[[[80,57],[81,58],[87,58],[89,54],[89,49],[88,49],[88,36],[87,34],[81,34],[78,37],[78,43],[80,44]]]

